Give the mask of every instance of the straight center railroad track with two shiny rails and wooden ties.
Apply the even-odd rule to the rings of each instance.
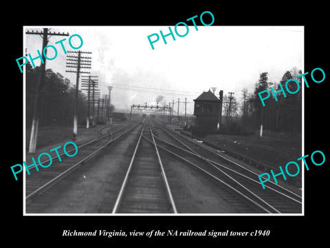
[[[177,213],[148,121],[142,127],[112,213]]]

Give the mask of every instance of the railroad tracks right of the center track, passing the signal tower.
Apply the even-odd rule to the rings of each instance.
[[[262,189],[256,173],[157,122],[154,124],[159,127],[155,131],[159,136],[167,136],[155,136],[157,146],[216,180],[222,185],[219,191],[225,189],[227,193],[236,195],[259,213],[301,213],[302,198],[298,194],[275,183]],[[237,208],[248,211],[244,207]]]

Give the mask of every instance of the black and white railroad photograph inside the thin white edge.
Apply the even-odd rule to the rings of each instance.
[[[303,213],[302,26],[24,28],[25,214]]]

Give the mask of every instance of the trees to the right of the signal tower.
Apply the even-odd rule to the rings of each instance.
[[[270,90],[273,87],[274,91],[281,90],[279,84],[285,85],[289,79],[296,79],[302,89],[301,70],[293,68],[283,74],[280,82],[274,83],[268,80],[268,72],[262,72],[259,75],[259,81],[254,85],[254,91],[249,92],[247,88],[241,90],[241,96],[226,94],[223,96],[223,116],[226,126],[241,125],[245,130],[257,130],[260,128],[261,121],[263,122],[264,130],[272,130],[276,133],[290,132],[301,133],[301,118],[302,118],[302,90],[296,94],[287,95],[285,98],[283,93],[276,94],[278,101],[271,94],[270,99],[267,99],[267,104],[263,107],[258,93],[263,90]],[[288,84],[289,90],[294,92],[297,85]]]

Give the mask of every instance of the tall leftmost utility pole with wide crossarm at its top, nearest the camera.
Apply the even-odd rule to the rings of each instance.
[[[35,153],[36,139],[38,136],[38,123],[39,123],[39,113],[38,113],[39,91],[41,90],[41,85],[43,85],[43,79],[45,77],[45,68],[46,68],[45,54],[47,54],[47,48],[45,50],[45,47],[47,46],[48,43],[48,37],[51,37],[52,35],[69,36],[69,33],[60,34],[56,32],[48,32],[48,28],[43,28],[43,32],[25,32],[25,34],[39,34],[43,38],[43,50],[42,50],[43,52],[41,55],[41,64],[39,66],[39,71],[38,71],[38,79],[36,81],[36,93],[34,95],[34,102],[33,102],[32,127],[31,127],[30,143],[29,143],[29,153]]]

